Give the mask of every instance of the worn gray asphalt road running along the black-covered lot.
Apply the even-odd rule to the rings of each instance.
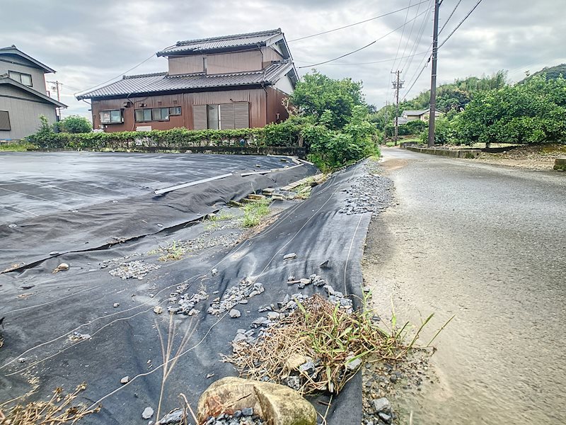
[[[413,424],[565,424],[566,174],[383,149],[398,205],[374,217],[364,278],[398,322],[446,320]],[[411,419],[409,419],[411,418]]]

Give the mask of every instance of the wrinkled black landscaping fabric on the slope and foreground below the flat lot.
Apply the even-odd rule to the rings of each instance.
[[[189,295],[201,289],[209,294],[218,290],[219,294],[195,306],[200,314],[174,316],[179,330],[173,355],[185,329],[195,331],[166,382],[162,414],[180,405],[180,393],[196,407],[199,395],[214,380],[236,375],[231,364],[221,361],[220,353],[231,353],[230,341],[237,329],[250,329],[253,320],[266,314],[258,312],[260,306],[299,292],[296,286],[287,285],[288,276],[308,278],[316,273],[359,305],[360,261],[371,212],[347,215],[337,211],[345,204],[345,189],[363,173],[361,164],[316,186],[308,200],[277,201],[275,207],[286,207],[278,219],[233,249],[209,249],[180,261],[159,263],[161,268],[150,271],[144,280],[122,280],[98,266],[106,259],[143,251],[145,239],[158,238],[158,232],[174,236],[175,226],[191,222],[227,200],[262,187],[282,186],[312,171],[301,166],[267,176],[204,183],[168,193],[165,199],[124,200],[120,201],[125,207],[120,212],[112,210],[116,204],[100,210],[93,205],[87,210],[96,212],[87,215],[81,211],[84,217],[75,215],[74,220],[54,214],[42,224],[37,220],[29,227],[18,225],[18,238],[2,226],[2,263],[9,259],[35,266],[0,275],[0,317],[6,316],[5,343],[0,348],[0,402],[28,392],[28,381],[33,377],[38,378],[38,387],[32,399],[48,398],[55,387],[72,390],[86,382],[83,402],[100,403],[103,408],[81,423],[146,423],[141,412],[148,406],[156,410],[163,372],[156,325],[166,334],[168,324],[168,314],[156,314],[154,307],[161,305],[166,311],[170,293],[180,284],[187,285],[185,293]],[[156,227],[157,223],[163,227]],[[142,237],[144,234],[148,236]],[[111,237],[127,242],[93,249],[108,244]],[[50,258],[45,255],[50,251],[67,254]],[[284,260],[291,252],[296,253],[296,259]],[[328,268],[320,268],[327,260]],[[69,270],[52,274],[62,261],[69,263]],[[212,276],[214,268],[216,276]],[[207,314],[212,299],[243,278],[261,282],[265,292],[238,306],[241,317]],[[306,295],[322,291],[313,285],[300,290]],[[119,306],[112,307],[115,303]],[[73,332],[91,338],[71,341]],[[121,385],[125,376],[129,382]],[[320,402],[328,402],[328,397],[312,401],[322,414],[328,409],[328,424],[359,424],[360,374],[332,399],[329,408]]]

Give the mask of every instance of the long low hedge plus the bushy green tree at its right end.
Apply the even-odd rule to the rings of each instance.
[[[313,71],[284,101],[290,118],[265,128],[237,130],[152,130],[92,132],[86,118],[71,116],[57,125],[47,118],[26,141],[42,149],[144,150],[190,147],[304,147],[322,171],[379,155],[381,132],[371,122],[362,83],[330,79]],[[87,123],[85,122],[87,121]]]

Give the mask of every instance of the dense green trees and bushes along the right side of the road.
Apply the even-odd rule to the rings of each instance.
[[[493,144],[534,145],[566,143],[566,65],[545,68],[509,84],[499,71],[488,77],[456,79],[439,86],[435,145],[490,147]],[[400,104],[399,111],[427,109],[429,91]],[[393,135],[395,109],[382,108],[371,116],[378,128]],[[386,117],[387,116],[387,122]],[[428,123],[410,121],[399,126],[400,142],[424,144]]]

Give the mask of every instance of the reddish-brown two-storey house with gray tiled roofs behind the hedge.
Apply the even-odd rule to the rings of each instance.
[[[263,127],[287,118],[296,69],[281,30],[179,41],[157,56],[168,72],[124,76],[90,98],[106,132]]]

